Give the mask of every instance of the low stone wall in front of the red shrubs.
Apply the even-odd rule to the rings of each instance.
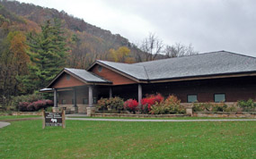
[[[187,114],[128,114],[128,113],[94,113],[92,117],[133,117],[133,118],[174,118],[190,116]]]

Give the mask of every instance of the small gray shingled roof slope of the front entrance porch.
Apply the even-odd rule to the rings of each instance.
[[[82,69],[69,69],[69,68],[65,68],[65,70],[75,74],[75,76],[81,79],[84,79],[85,81],[88,81],[88,82],[110,83],[109,80],[103,79],[102,77],[99,77],[89,71],[85,71]]]

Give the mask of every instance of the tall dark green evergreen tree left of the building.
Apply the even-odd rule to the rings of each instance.
[[[41,26],[41,33],[28,35],[31,57],[30,74],[23,78],[26,88],[31,91],[45,88],[66,65],[66,38],[61,22],[55,19]]]

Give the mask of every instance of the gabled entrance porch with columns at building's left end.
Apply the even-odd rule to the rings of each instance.
[[[124,88],[122,87],[123,89],[119,92],[132,94],[132,97],[136,98],[140,104],[142,98],[141,85],[123,86]],[[41,92],[50,91],[54,94],[54,112],[65,108],[66,113],[91,113],[91,111],[95,111],[97,101],[101,97],[118,96],[113,94],[113,90],[116,90],[116,88],[111,81],[102,79],[91,72],[64,69],[52,80],[49,87],[41,89]]]

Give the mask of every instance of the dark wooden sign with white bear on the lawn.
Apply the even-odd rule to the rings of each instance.
[[[65,110],[62,110],[61,113],[52,113],[52,112],[42,112],[43,115],[43,129],[46,126],[60,126],[66,128],[65,123]]]

